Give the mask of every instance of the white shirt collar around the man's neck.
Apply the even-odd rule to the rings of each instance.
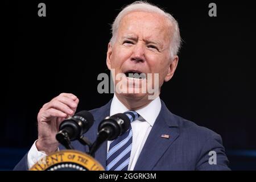
[[[117,96],[113,97],[111,106],[110,106],[110,115],[114,115],[117,113],[124,113],[125,111],[128,111],[127,107],[122,104],[121,101],[118,100]],[[135,110],[143,119],[146,120],[150,124],[150,126],[153,126],[155,123],[156,118],[158,117],[158,114],[161,110],[161,101],[160,98],[157,97],[155,100],[152,100],[150,104],[143,107],[142,109]]]

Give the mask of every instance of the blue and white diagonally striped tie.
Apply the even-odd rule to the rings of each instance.
[[[129,117],[131,122],[135,121],[139,117],[139,114],[135,111],[126,111],[125,114]],[[110,143],[106,160],[107,171],[127,171],[132,142],[133,131],[130,126],[129,130]]]

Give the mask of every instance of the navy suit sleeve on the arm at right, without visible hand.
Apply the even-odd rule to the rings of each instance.
[[[229,171],[229,161],[225,154],[220,135],[213,133],[201,148],[196,170],[199,171]]]

